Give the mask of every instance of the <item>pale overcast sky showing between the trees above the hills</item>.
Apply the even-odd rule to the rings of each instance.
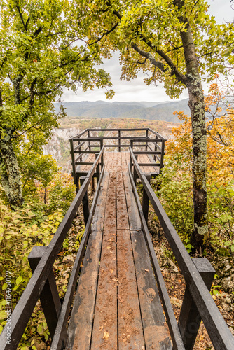
[[[209,13],[216,17],[216,21],[219,23],[233,21],[234,10],[230,7],[230,0],[208,0],[210,5]],[[234,2],[233,2],[234,8]],[[113,90],[115,95],[109,102],[130,102],[130,101],[150,101],[150,102],[164,102],[168,101],[169,97],[163,90],[163,85],[158,83],[158,86],[147,86],[143,83],[144,74],[139,73],[136,79],[133,79],[130,83],[126,81],[120,81],[121,66],[118,63],[118,53],[113,55],[113,58],[104,60],[103,68],[111,74],[111,81],[114,84]],[[207,94],[208,86],[203,85],[204,92]],[[95,89],[94,91],[82,92],[78,89],[76,93],[64,91],[62,96],[63,102],[73,101],[97,101],[104,100],[106,97],[105,90]],[[188,94],[184,90],[180,99],[186,99]]]

